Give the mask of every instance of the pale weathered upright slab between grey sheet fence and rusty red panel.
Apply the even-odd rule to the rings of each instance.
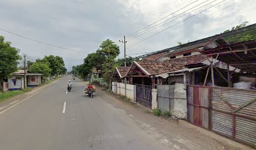
[[[184,84],[175,84],[174,90],[174,114],[176,118],[187,119],[186,88]]]

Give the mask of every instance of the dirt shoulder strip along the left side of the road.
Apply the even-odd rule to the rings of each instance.
[[[23,99],[26,99],[28,98],[29,96],[37,93],[38,91],[40,91],[41,89],[44,89],[48,86],[51,86],[55,83],[57,83],[59,79],[56,79],[55,81],[52,81],[51,83],[49,84],[45,84],[43,86],[39,86],[39,87],[36,87],[36,88],[32,88],[30,91],[28,92],[25,92],[25,93],[21,93],[21,94],[18,94],[16,96],[13,96],[12,98],[9,98],[9,99],[6,99],[4,101],[1,101],[0,103],[0,112],[1,111],[4,111],[5,109],[8,109],[9,107],[13,106],[14,104],[18,103],[19,101],[22,101]]]

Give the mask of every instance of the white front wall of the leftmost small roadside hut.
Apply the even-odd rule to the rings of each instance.
[[[13,75],[10,78],[8,78],[8,89],[16,90],[16,89],[23,89],[23,88],[24,88],[23,76]]]

